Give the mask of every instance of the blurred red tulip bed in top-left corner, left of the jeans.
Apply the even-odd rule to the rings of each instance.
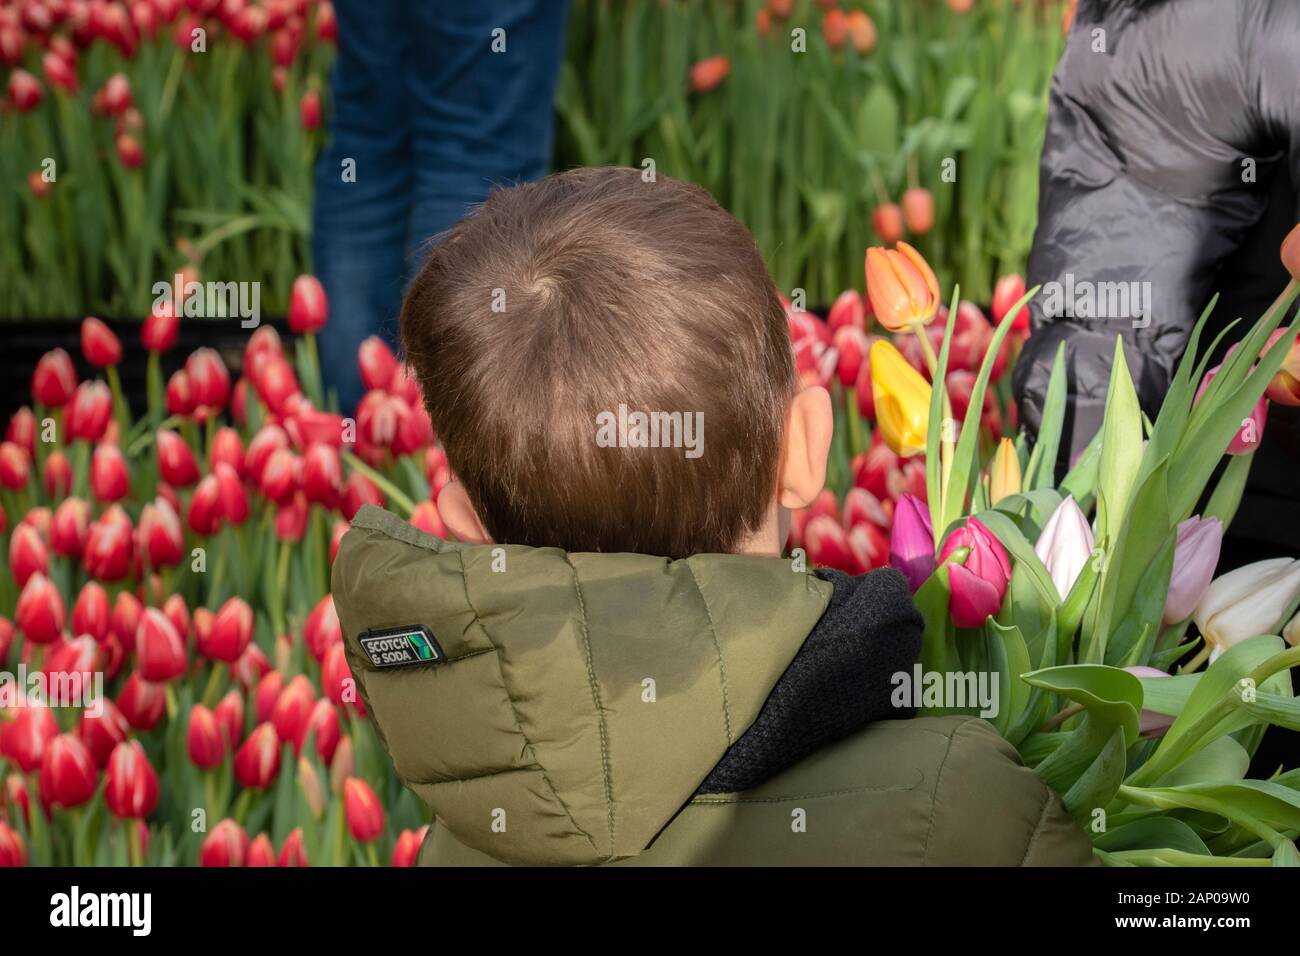
[[[309,263],[328,0],[0,0],[0,316],[143,315],[153,284]]]

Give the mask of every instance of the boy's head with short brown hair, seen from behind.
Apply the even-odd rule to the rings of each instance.
[[[493,193],[432,247],[402,341],[460,540],[777,553],[779,505],[826,477],[829,398],[797,392],[758,248],[698,186],[604,168]]]

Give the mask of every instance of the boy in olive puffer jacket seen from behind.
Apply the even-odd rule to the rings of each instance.
[[[432,248],[402,337],[456,544],[365,509],[333,591],[436,817],[422,864],[1091,861],[987,723],[893,719],[922,628],[900,574],[781,559],[829,397],[797,389],[758,250],[703,190],[495,193]]]

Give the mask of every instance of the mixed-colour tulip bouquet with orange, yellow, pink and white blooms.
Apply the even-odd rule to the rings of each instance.
[[[1282,259],[1300,277],[1300,228]],[[1102,428],[1057,481],[1063,352],[1032,451],[1023,438],[1002,441],[980,470],[980,408],[1036,290],[998,323],[958,414],[946,384],[958,310],[935,355],[926,324],[939,286],[926,261],[906,247],[872,250],[867,269],[878,317],[915,332],[932,369],[931,385],[890,342],[871,346],[884,441],[909,460],[924,455],[889,544],[926,618],[923,711],[971,710],[954,691],[996,675],[983,715],[1061,795],[1108,864],[1300,865],[1300,770],[1247,777],[1269,724],[1300,730],[1290,679],[1300,665],[1300,561],[1212,580],[1268,402],[1300,405],[1300,321],[1278,328],[1300,278],[1216,368],[1204,358],[1213,345],[1201,342],[1210,303],[1154,421],[1141,414],[1117,337]]]

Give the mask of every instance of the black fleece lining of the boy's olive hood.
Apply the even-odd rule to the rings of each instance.
[[[892,568],[816,575],[835,588],[826,613],[697,792],[751,790],[872,721],[913,715],[890,702],[892,678],[911,672],[924,627],[906,579]]]

